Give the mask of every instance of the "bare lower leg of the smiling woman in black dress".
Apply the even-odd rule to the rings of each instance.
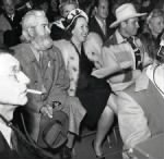
[[[97,156],[102,156],[103,140],[108,133],[114,121],[114,111],[106,106],[97,123],[96,138],[94,140],[94,149]]]

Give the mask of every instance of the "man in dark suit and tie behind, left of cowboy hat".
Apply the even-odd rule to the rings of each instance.
[[[89,21],[90,32],[97,33],[104,42],[114,32],[114,29],[109,28],[112,20],[108,14],[108,0],[95,0],[95,15]]]

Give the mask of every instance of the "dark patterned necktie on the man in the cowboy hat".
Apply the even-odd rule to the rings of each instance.
[[[127,41],[131,45],[133,52],[134,52],[136,69],[142,70],[141,52],[140,52],[139,48],[136,46],[134,37],[129,37],[127,39]]]

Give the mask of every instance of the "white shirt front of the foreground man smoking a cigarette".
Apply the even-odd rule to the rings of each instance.
[[[5,124],[0,123],[0,131],[3,135],[3,137],[5,138],[7,143],[9,144],[10,148],[12,148],[12,144],[11,144],[12,130],[11,130],[11,127],[7,126]]]

